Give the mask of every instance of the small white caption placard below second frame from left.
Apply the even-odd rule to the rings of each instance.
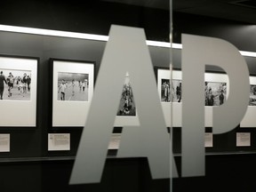
[[[70,150],[70,133],[49,133],[48,150]]]

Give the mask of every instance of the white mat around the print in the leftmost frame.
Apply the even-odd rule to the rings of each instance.
[[[37,96],[37,58],[19,56],[0,56],[1,69],[31,71],[30,100],[0,100],[1,126],[36,127],[36,96]],[[5,78],[7,75],[5,75]],[[4,92],[7,92],[4,89]]]

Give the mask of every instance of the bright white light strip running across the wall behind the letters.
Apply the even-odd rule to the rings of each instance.
[[[25,28],[25,27],[17,27],[17,26],[0,25],[0,31],[43,35],[43,36],[61,36],[61,37],[88,39],[88,40],[95,40],[95,41],[105,41],[105,42],[108,41],[108,36],[50,30],[50,29],[42,29],[42,28]],[[158,42],[158,41],[147,40],[146,44],[149,46],[157,46],[157,47],[165,47],[165,48],[171,47],[171,44],[168,42]],[[172,48],[182,49],[182,44],[172,44]],[[245,51],[239,51],[239,52],[243,56],[256,57],[256,52],[245,52]]]

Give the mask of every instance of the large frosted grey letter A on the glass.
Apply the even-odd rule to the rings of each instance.
[[[140,126],[124,127],[118,156],[148,157],[152,178],[169,178],[170,135],[164,123],[144,30],[112,26],[70,184],[100,182],[127,72]]]

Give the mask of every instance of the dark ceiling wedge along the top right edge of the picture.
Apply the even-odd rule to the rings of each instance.
[[[169,10],[169,0],[101,0]],[[255,0],[172,0],[174,12],[185,12],[256,24]]]

